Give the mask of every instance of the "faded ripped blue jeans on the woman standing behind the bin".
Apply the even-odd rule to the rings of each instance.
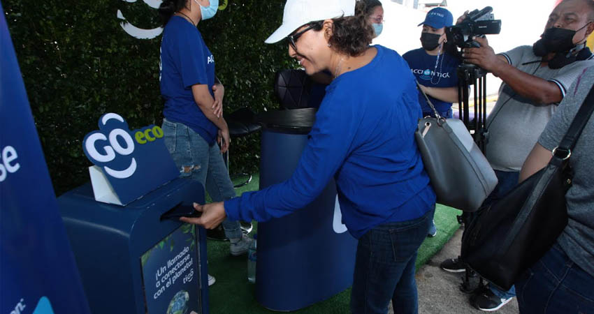
[[[164,119],[161,128],[165,146],[180,169],[180,177],[190,177],[200,182],[213,202],[222,202],[236,196],[218,145],[209,145],[185,124]],[[223,229],[229,239],[242,237],[239,221],[227,218],[223,221]]]

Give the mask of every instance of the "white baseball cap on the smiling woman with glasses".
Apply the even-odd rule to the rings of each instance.
[[[282,24],[265,43],[277,43],[299,27],[314,21],[355,14],[356,0],[287,0]]]

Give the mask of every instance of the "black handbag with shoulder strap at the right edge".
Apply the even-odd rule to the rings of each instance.
[[[594,110],[593,100],[591,89],[549,164],[481,209],[464,231],[461,259],[503,290],[549,251],[567,225],[569,158]]]

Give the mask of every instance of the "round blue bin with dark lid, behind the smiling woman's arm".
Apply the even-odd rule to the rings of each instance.
[[[314,108],[263,112],[260,188],[291,177]],[[274,311],[294,311],[352,285],[357,241],[342,225],[334,180],[312,203],[258,225],[256,300]]]

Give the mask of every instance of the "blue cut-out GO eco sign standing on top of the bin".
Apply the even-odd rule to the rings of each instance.
[[[128,204],[180,175],[165,147],[163,130],[147,126],[130,131],[119,114],[103,114],[99,130],[87,134],[82,148],[87,158],[101,168],[121,204]]]

